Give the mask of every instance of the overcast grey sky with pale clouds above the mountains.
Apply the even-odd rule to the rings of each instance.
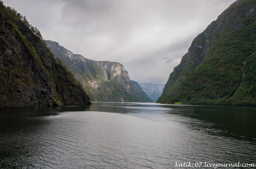
[[[192,40],[235,0],[3,0],[45,40],[165,84]]]

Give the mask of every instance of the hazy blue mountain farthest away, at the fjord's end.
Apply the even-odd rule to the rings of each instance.
[[[139,85],[154,102],[161,96],[164,89],[164,84],[140,83]]]

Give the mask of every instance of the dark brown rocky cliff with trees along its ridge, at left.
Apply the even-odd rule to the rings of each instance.
[[[20,17],[0,3],[0,107],[90,104]]]

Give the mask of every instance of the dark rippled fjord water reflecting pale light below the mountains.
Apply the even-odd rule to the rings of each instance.
[[[94,103],[0,109],[0,168],[256,164],[255,121],[255,107]]]

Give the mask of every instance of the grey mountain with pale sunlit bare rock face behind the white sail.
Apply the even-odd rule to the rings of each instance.
[[[55,58],[74,74],[92,101],[148,102],[130,82],[124,66],[117,62],[95,61],[73,54],[59,43],[45,40]],[[59,58],[59,59],[58,59]]]

